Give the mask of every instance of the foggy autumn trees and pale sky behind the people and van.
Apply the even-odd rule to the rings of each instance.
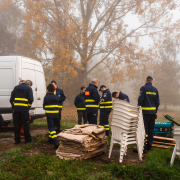
[[[176,0],[0,0],[0,56],[43,64],[74,108],[93,78],[137,104],[147,76],[160,110],[180,122],[180,2]],[[99,86],[100,87],[100,86]]]

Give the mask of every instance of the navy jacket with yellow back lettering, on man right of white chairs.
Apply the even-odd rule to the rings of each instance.
[[[143,114],[156,114],[159,107],[158,90],[152,86],[152,83],[146,83],[140,89],[138,105],[142,106]]]

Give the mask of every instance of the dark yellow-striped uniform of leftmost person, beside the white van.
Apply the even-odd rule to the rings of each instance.
[[[31,142],[31,135],[29,133],[29,108],[33,102],[33,92],[31,87],[22,83],[15,86],[11,92],[10,103],[14,108],[14,136],[15,143],[20,142],[20,130],[23,124],[25,143]]]

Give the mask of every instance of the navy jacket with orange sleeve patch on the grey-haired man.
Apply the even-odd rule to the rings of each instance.
[[[100,95],[97,91],[97,86],[89,84],[85,91],[85,104],[87,112],[97,111],[99,108]]]

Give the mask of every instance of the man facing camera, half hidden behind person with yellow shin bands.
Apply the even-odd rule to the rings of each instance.
[[[55,122],[55,126],[56,126],[56,132],[60,133],[60,127],[61,127],[61,111],[62,111],[62,107],[63,107],[63,102],[66,100],[66,96],[63,92],[62,89],[59,89],[57,87],[57,83],[56,81],[52,81],[51,84],[54,86],[55,90],[54,90],[54,94],[58,97],[58,108],[59,108],[59,117]]]

